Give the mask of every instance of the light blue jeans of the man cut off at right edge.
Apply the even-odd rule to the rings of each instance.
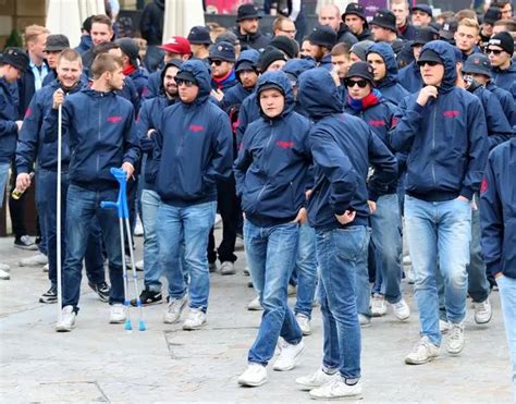
[[[516,279],[502,276],[496,279],[502,302],[505,332],[513,363],[513,392],[516,402]]]

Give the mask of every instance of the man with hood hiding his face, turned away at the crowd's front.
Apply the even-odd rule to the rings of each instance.
[[[324,355],[319,370],[296,382],[315,388],[310,391],[315,399],[359,395],[361,343],[355,278],[367,271],[367,201],[371,194],[384,194],[396,180],[397,162],[364,121],[342,113],[340,91],[328,71],[304,72],[298,97],[316,122],[309,134],[316,177],[308,220],[317,234]],[[366,183],[370,166],[374,174]]]

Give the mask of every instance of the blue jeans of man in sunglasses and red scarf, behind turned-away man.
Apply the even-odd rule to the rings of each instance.
[[[377,279],[380,293],[389,303],[402,299],[402,217],[397,194],[383,195],[371,215],[371,238],[376,249]],[[378,273],[380,276],[378,277]]]

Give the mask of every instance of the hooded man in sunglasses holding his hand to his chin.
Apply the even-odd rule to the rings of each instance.
[[[408,152],[406,233],[421,322],[421,339],[405,358],[413,365],[439,355],[438,259],[451,327],[447,352],[459,354],[464,347],[470,200],[489,148],[481,102],[455,86],[455,61],[450,44],[433,40],[423,46],[418,64],[426,86],[402,100],[390,133],[391,146]]]

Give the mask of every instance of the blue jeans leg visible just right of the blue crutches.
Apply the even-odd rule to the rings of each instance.
[[[142,220],[144,224],[144,280],[145,287],[152,292],[161,292],[161,265],[159,262],[158,234],[156,216],[161,198],[151,189],[142,192]]]

